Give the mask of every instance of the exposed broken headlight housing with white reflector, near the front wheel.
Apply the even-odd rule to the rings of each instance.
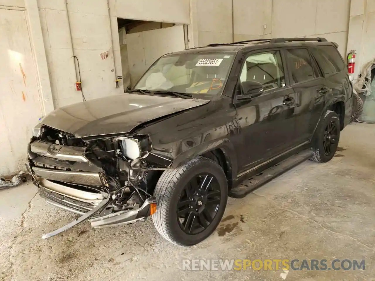
[[[117,137],[113,142],[116,156],[124,160],[134,160],[151,151],[151,141],[148,136]]]

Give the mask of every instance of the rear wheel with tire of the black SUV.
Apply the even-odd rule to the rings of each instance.
[[[340,139],[340,118],[335,111],[328,110],[321,120],[312,141],[310,160],[325,163],[336,153]]]

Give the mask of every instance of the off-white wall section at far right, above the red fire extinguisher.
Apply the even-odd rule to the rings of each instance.
[[[375,0],[352,0],[348,51],[356,50],[354,78],[375,59]]]

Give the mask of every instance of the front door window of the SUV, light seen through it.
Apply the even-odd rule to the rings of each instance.
[[[251,54],[241,70],[240,81],[255,81],[264,90],[285,86],[284,68],[279,51]]]

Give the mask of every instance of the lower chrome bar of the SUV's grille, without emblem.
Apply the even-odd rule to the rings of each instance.
[[[73,172],[66,170],[43,169],[39,167],[31,168],[36,176],[54,181],[74,182],[85,185],[104,185],[101,174],[94,172]],[[104,175],[102,175],[104,177]]]

